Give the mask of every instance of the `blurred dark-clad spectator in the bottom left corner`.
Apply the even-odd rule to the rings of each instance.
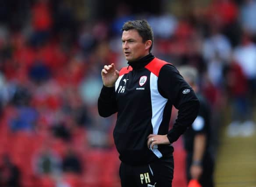
[[[0,165],[0,186],[1,187],[20,187],[21,172],[14,163],[11,162],[9,155],[3,155]]]

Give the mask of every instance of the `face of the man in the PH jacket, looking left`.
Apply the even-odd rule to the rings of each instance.
[[[149,47],[147,42],[142,42],[142,37],[135,29],[123,31],[122,48],[126,60],[134,61],[148,55]]]

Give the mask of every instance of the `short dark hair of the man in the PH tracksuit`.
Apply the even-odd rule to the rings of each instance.
[[[146,42],[147,40],[152,41],[152,44],[149,48],[149,52],[151,52],[151,49],[153,47],[153,30],[149,23],[146,20],[125,22],[122,31],[128,31],[131,29],[135,29],[136,31],[138,31],[139,35],[142,37],[142,42]]]

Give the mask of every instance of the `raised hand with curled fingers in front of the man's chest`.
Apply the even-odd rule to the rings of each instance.
[[[103,85],[106,87],[114,87],[119,71],[116,70],[115,64],[105,65],[101,70]]]

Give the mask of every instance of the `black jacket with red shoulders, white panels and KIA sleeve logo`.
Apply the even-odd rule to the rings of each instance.
[[[171,145],[147,147],[149,134],[167,134],[170,143],[176,141],[195,120],[199,100],[177,69],[151,53],[128,62],[120,70],[115,86],[103,86],[98,99],[100,116],[117,112],[114,142],[120,160],[129,165],[153,162],[173,152]],[[171,109],[178,118],[168,132]]]

